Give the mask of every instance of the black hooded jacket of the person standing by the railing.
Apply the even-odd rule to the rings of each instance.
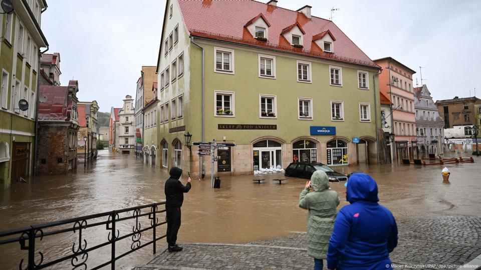
[[[184,201],[184,192],[189,192],[190,183],[184,186],[179,178],[182,175],[182,169],[178,167],[172,167],[169,171],[170,178],[165,182],[165,203],[166,208],[174,208],[182,206]]]

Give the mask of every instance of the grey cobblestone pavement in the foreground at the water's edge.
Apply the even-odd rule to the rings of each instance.
[[[403,264],[403,269],[445,269],[481,254],[479,217],[408,219],[398,221],[398,229],[399,242],[390,257],[394,264]],[[312,269],[314,260],[306,254],[306,237],[305,232],[293,232],[242,244],[182,244],[183,251],[164,251],[133,269]]]

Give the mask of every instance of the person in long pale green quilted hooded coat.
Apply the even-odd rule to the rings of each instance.
[[[309,192],[310,188],[314,192]],[[316,170],[299,195],[299,207],[309,210],[307,214],[307,254],[314,258],[314,270],[322,269],[327,257],[329,238],[334,228],[337,205],[340,199],[329,188],[326,172]]]

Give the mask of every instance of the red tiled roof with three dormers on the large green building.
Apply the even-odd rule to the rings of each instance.
[[[302,12],[275,7],[254,0],[179,0],[179,5],[186,27],[190,34],[194,36],[291,51],[380,68],[334,22],[327,19],[315,16],[309,19]],[[253,17],[261,13],[271,24],[268,31],[268,42],[256,40],[252,34],[246,33],[244,27]],[[303,49],[293,47],[281,34],[295,25],[299,25],[305,32]],[[333,36],[336,36],[334,53],[320,52],[312,45],[312,37],[327,30]]]

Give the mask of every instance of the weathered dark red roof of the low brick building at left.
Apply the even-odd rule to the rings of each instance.
[[[47,101],[39,102],[39,121],[67,121],[67,86],[40,85],[39,93],[47,96]]]

